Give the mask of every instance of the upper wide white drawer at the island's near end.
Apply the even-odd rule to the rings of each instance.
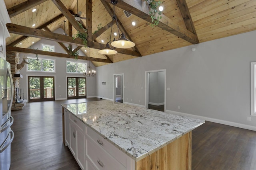
[[[98,133],[96,133],[94,130],[92,130],[90,127],[86,128],[86,135],[94,141],[94,143],[106,150],[109,154],[111,154],[113,157],[116,158],[121,164],[126,166],[127,164],[127,158],[128,156],[124,154],[121,150],[116,148],[112,143],[108,142],[106,139],[104,139],[102,136],[100,136]],[[130,157],[129,157],[130,158]]]

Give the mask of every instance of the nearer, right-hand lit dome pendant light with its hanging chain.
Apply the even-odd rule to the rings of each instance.
[[[111,45],[113,47],[120,48],[120,49],[128,49],[128,48],[134,47],[135,43],[130,41],[129,39],[127,39],[125,37],[125,33],[122,33],[121,35],[119,33],[118,21],[117,21],[117,17],[116,17],[116,14],[115,14],[115,5],[117,4],[117,0],[111,0],[110,2],[111,2],[111,4],[114,5],[114,16],[113,16],[113,19],[115,17],[116,25],[117,25],[117,30],[118,30],[118,34],[119,34],[119,39],[118,40],[114,39],[114,41],[111,43]]]

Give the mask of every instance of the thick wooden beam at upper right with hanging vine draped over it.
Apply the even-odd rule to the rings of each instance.
[[[101,0],[110,3],[109,0]],[[147,9],[145,9],[145,1],[140,2],[140,0],[119,0],[116,6],[118,8],[121,8],[123,10],[126,10],[130,12],[131,14],[134,14],[135,16],[138,16],[139,18],[148,21],[151,23],[151,17],[148,14],[148,6],[146,6]],[[134,5],[134,6],[133,6]],[[187,29],[184,29],[174,23],[170,18],[161,15],[162,19],[159,20],[158,27],[192,43],[192,44],[198,44],[198,38],[197,36],[188,31]]]

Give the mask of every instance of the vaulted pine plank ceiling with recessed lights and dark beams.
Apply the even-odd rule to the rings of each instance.
[[[77,30],[83,31],[72,16],[78,10],[82,12],[82,17],[86,17],[81,21],[88,29],[88,45],[92,47],[90,57],[93,57],[95,66],[256,30],[256,0],[162,0],[162,19],[154,27],[150,27],[151,19],[145,0],[118,0],[115,13],[120,32],[125,32],[136,46],[116,49],[118,53],[115,55],[101,55],[98,50],[104,48],[110,39],[113,14],[110,0],[78,0],[78,9],[77,0],[4,1],[12,21],[12,24],[7,24],[11,35],[6,39],[7,51],[71,57],[28,49],[32,42],[41,38],[58,41],[62,47],[65,42],[77,45],[84,51],[86,47],[82,47],[81,40],[52,33],[58,28],[64,29],[64,20],[67,21],[65,32],[68,35],[74,35]],[[32,12],[34,8],[36,12]],[[132,13],[132,16],[127,18],[124,10]],[[132,25],[133,21],[136,22],[135,26]],[[32,27],[33,24],[36,26]],[[103,28],[92,35],[99,24]],[[118,32],[116,24],[113,25],[112,34],[114,32]],[[113,38],[118,39],[118,36],[113,34],[111,41]]]

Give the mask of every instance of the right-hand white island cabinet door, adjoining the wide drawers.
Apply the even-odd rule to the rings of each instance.
[[[80,168],[84,170],[85,168],[85,139],[84,133],[80,130],[76,129],[76,141],[77,141],[77,152],[76,152],[76,160],[80,165]]]

